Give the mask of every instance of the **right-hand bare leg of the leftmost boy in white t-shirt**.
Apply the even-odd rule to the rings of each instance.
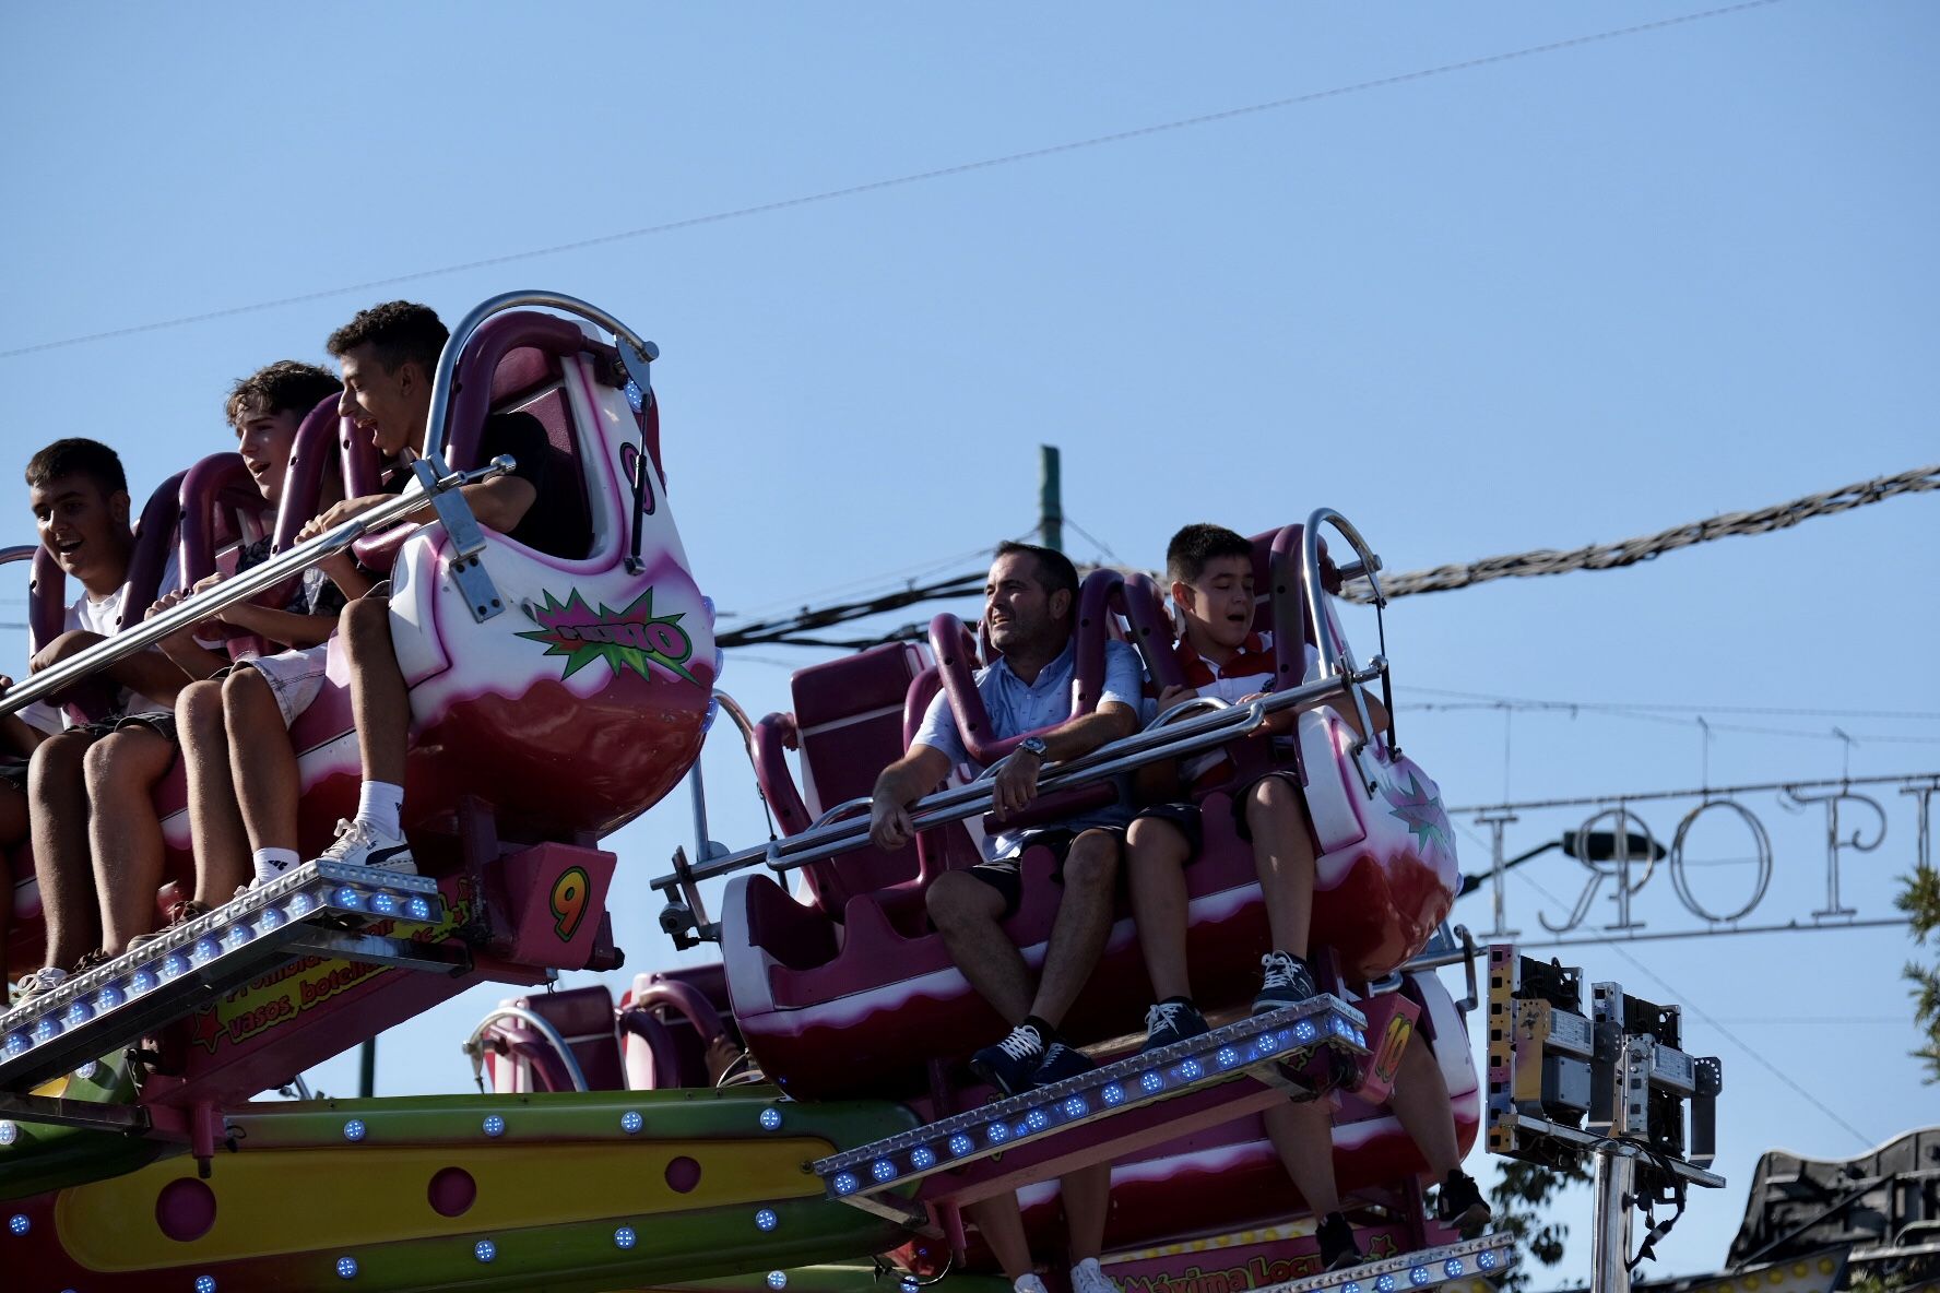
[[[101,946],[120,956],[130,938],[155,927],[163,843],[153,791],[175,762],[175,746],[136,723],[97,741],[83,762],[95,806],[87,834],[101,894]]]

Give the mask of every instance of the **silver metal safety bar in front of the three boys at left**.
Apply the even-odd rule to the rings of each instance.
[[[442,467],[444,463],[442,459],[431,457],[431,465]],[[308,543],[299,543],[291,551],[272,556],[260,566],[250,566],[239,576],[231,576],[213,587],[202,589],[194,597],[188,597],[177,603],[175,607],[169,607],[155,618],[142,620],[132,628],[124,628],[113,638],[107,638],[105,642],[87,647],[80,655],[64,659],[48,669],[43,669],[25,682],[16,682],[6,696],[0,696],[0,713],[14,713],[16,710],[33,704],[35,700],[52,696],[54,692],[74,686],[76,682],[80,682],[81,678],[99,669],[128,659],[136,651],[146,651],[147,647],[155,646],[157,642],[175,632],[204,622],[206,618],[210,618],[217,611],[223,611],[225,607],[233,607],[239,601],[248,601],[250,597],[256,597],[258,593],[275,587],[283,580],[301,574],[303,570],[308,570],[316,562],[347,551],[353,543],[357,543],[357,539],[365,537],[367,533],[384,529],[386,525],[392,525],[394,521],[400,521],[411,516],[413,512],[423,510],[427,502],[436,504],[440,498],[448,498],[450,502],[464,506],[464,498],[456,494],[458,489],[512,471],[514,465],[516,463],[508,456],[501,454],[499,457],[491,459],[489,465],[477,467],[475,471],[450,471],[450,473],[436,471],[436,481],[433,483],[435,489],[429,492],[425,489],[425,483],[431,479],[429,473],[419,475],[396,498],[390,498],[371,508],[369,512],[343,521],[330,533],[318,535]],[[14,549],[8,551],[12,552]],[[469,558],[471,554],[460,552],[460,556]]]

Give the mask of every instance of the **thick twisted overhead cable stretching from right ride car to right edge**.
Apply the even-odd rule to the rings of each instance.
[[[1674,552],[1676,549],[1688,549],[1696,543],[1729,539],[1732,535],[1765,535],[1775,529],[1791,529],[1814,516],[1835,516],[1853,508],[1864,508],[1868,502],[1897,498],[1899,494],[1923,494],[1934,489],[1940,489],[1940,463],[1915,467],[1899,475],[1874,477],[1859,485],[1826,490],[1824,494],[1806,494],[1804,498],[1758,508],[1756,512],[1727,512],[1705,521],[1672,525],[1655,535],[1624,539],[1622,543],[1600,543],[1569,552],[1536,549],[1535,552],[1515,552],[1509,556],[1484,556],[1467,566],[1436,566],[1434,570],[1383,576],[1381,593],[1387,597],[1408,597],[1410,593],[1439,593],[1451,587],[1469,587],[1471,583],[1488,583],[1490,580],[1507,580],[1511,576],[1529,578],[1538,574],[1569,574],[1571,570],[1616,570]],[[1372,601],[1366,580],[1350,582],[1342,589],[1342,595],[1350,601]]]

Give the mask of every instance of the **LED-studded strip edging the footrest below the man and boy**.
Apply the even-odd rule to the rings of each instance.
[[[1366,1016],[1346,1002],[1315,996],[817,1159],[809,1169],[823,1179],[832,1198],[859,1200],[1013,1150],[1063,1126],[1230,1082],[1263,1066],[1300,1066],[1321,1047],[1364,1056],[1366,1029]]]

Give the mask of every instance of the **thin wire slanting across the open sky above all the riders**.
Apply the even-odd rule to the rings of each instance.
[[[19,345],[10,351],[0,351],[0,359],[19,359],[21,355],[37,355],[41,351],[56,351],[70,345],[87,345],[91,341],[109,341],[113,337],[132,337],[147,331],[161,331],[165,328],[186,328],[190,324],[206,324],[217,318],[235,318],[237,314],[256,314],[262,310],[274,310],[287,304],[305,304],[308,300],[328,300],[330,297],[347,297],[351,293],[369,293],[388,287],[402,287],[405,283],[421,283],[423,279],[435,279],[448,273],[464,273],[468,269],[491,269],[497,266],[510,266],[522,260],[537,260],[541,256],[561,256],[565,252],[582,252],[594,246],[607,246],[611,242],[627,242],[632,238],[650,238],[662,233],[675,233],[679,229],[695,229],[696,225],[718,225],[722,221],[745,219],[749,215],[768,215],[772,211],[786,211],[790,207],[805,207],[821,202],[834,202],[838,198],[857,198],[861,194],[881,192],[885,188],[902,188],[906,184],[922,184],[927,180],[941,180],[953,174],[968,174],[972,171],[989,171],[993,167],[1009,167],[1022,161],[1036,161],[1040,157],[1055,157],[1059,153],[1075,153],[1086,147],[1104,147],[1108,143],[1125,143],[1131,140],[1145,140],[1156,134],[1168,134],[1174,130],[1191,130],[1197,126],[1212,126],[1216,122],[1228,122],[1240,116],[1251,116],[1255,112],[1275,112],[1280,109],[1300,107],[1304,103],[1317,103],[1321,99],[1339,99],[1342,95],[1358,95],[1370,89],[1387,89],[1389,85],[1405,85],[1408,81],[1424,81],[1436,76],[1449,76],[1453,72],[1472,72],[1474,68],[1488,68],[1500,62],[1511,62],[1517,58],[1536,58],[1540,54],[1556,54],[1566,48],[1577,48],[1583,45],[1599,45],[1604,41],[1620,41],[1624,37],[1643,35],[1647,31],[1661,31],[1665,27],[1682,27],[1686,23],[1705,21],[1709,17],[1725,17],[1727,14],[1742,14],[1746,10],[1762,10],[1779,4],[1779,0],[1746,0],[1744,4],[1727,4],[1715,10],[1701,10],[1698,14],[1680,14],[1678,17],[1661,17],[1651,23],[1635,23],[1632,27],[1614,27],[1610,31],[1595,31],[1591,35],[1569,37],[1568,41],[1550,41],[1546,45],[1531,45],[1517,50],[1505,50],[1502,54],[1484,54],[1482,58],[1463,58],[1461,62],[1445,62],[1434,68],[1420,68],[1418,72],[1401,72],[1397,76],[1381,76],[1370,81],[1354,81],[1352,85],[1335,85],[1331,89],[1315,89],[1304,95],[1288,95],[1286,99],[1271,99],[1267,103],[1249,103],[1238,109],[1224,109],[1220,112],[1203,112],[1199,116],[1181,116],[1170,122],[1158,122],[1152,126],[1137,126],[1133,130],[1117,130],[1112,134],[1090,136],[1088,140],[1069,140],[1065,143],[1051,143],[1046,147],[1032,147],[1020,153],[1003,153],[1001,157],[984,157],[982,161],[964,161],[953,167],[935,167],[931,171],[916,171],[910,174],[898,174],[885,180],[869,180],[867,184],[848,184],[844,188],[824,188],[815,194],[801,194],[795,198],[780,198],[776,202],[760,202],[747,207],[731,207],[728,211],[712,211],[708,215],[689,215],[687,219],[665,221],[660,225],[644,225],[640,229],[623,229],[619,233],[603,233],[592,238],[576,238],[572,242],[555,242],[553,246],[535,246],[524,252],[506,252],[504,256],[485,256],[479,260],[466,260],[452,266],[438,266],[436,269],[417,269],[413,273],[396,273],[382,279],[365,279],[363,283],[349,283],[345,287],[326,287],[322,291],[299,293],[295,297],[275,297],[272,300],[256,300],[252,304],[229,306],[223,310],[204,310],[202,314],[182,314],[177,318],[155,320],[149,324],[134,324],[128,328],[109,328],[105,331],[89,331],[78,337],[60,337],[56,341],[37,341],[35,345]]]

